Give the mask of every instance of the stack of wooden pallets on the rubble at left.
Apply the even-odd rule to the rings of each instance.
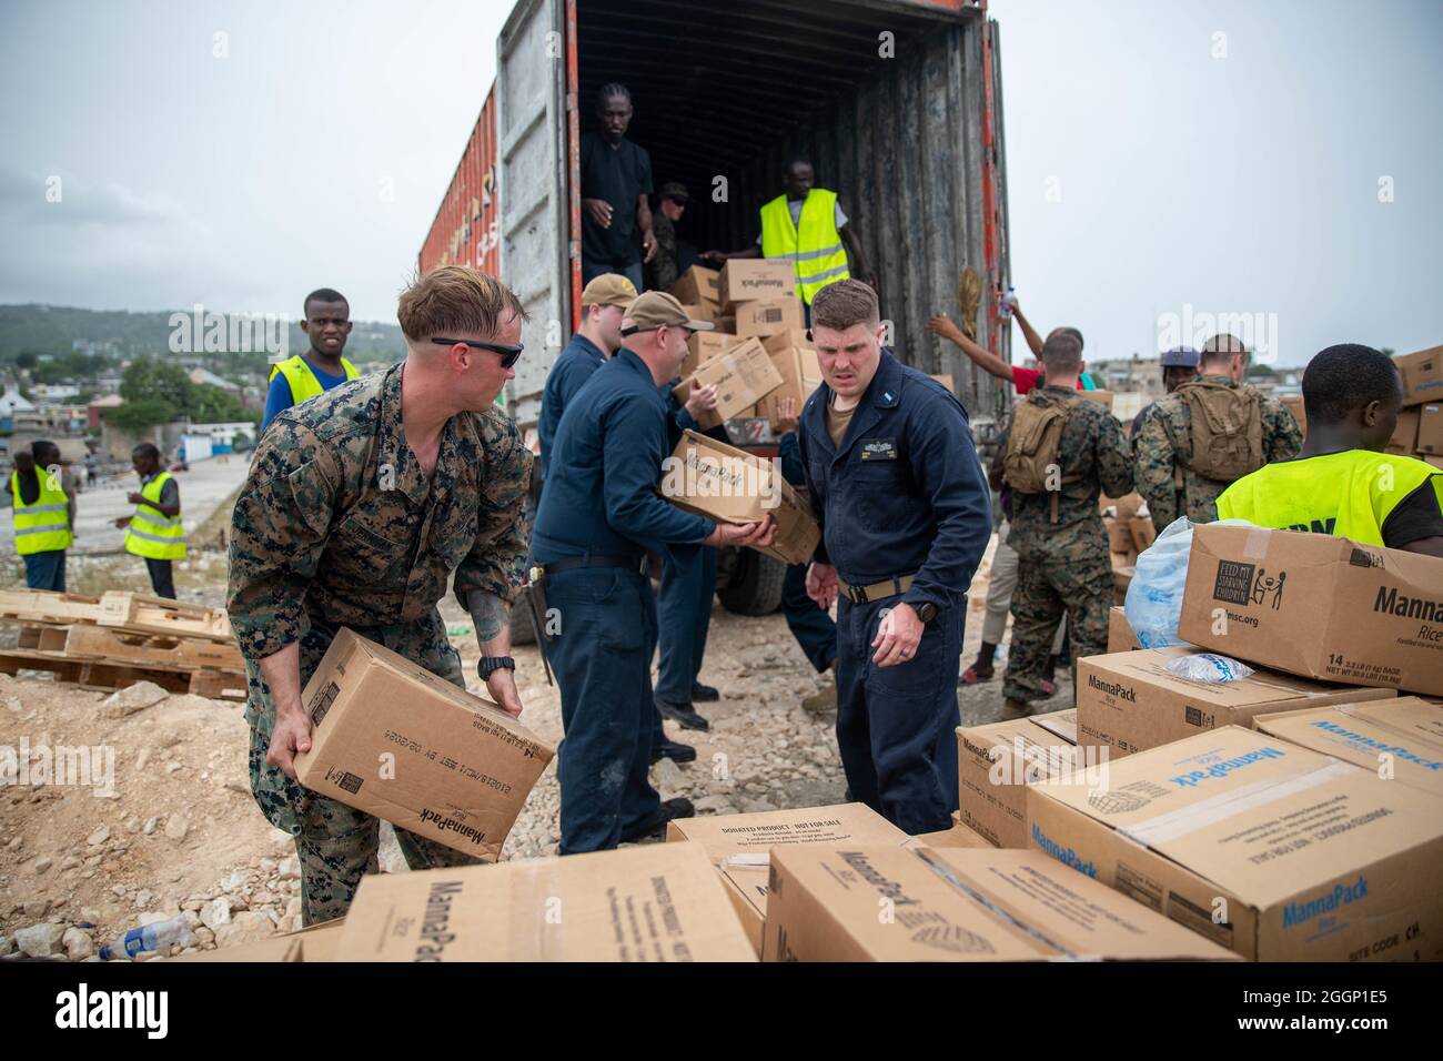
[[[245,663],[221,608],[128,592],[0,590],[0,622],[20,626],[20,644],[0,650],[0,674],[49,671],[84,689],[154,681],[173,693],[245,699]]]

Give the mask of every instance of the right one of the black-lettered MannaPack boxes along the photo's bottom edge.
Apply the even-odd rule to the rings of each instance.
[[[1235,960],[1032,850],[778,847],[766,961]]]

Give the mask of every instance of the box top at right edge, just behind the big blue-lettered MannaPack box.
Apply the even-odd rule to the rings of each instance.
[[[1258,715],[1253,728],[1443,797],[1443,707],[1421,696]]]

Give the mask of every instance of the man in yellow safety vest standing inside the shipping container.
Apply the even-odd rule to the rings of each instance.
[[[714,264],[730,258],[789,258],[797,267],[797,296],[807,307],[811,328],[812,296],[830,283],[847,280],[856,266],[857,279],[877,290],[877,274],[867,264],[861,240],[847,224],[837,193],[817,188],[817,175],[807,159],[794,159],[782,175],[782,195],[762,206],[762,234],[745,251],[707,251]]]

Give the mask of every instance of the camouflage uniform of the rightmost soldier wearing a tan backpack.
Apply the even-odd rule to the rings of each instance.
[[[1237,388],[1240,384],[1229,375],[1208,374],[1198,377],[1199,383],[1218,383]],[[1183,384],[1186,387],[1186,384]],[[1245,385],[1245,384],[1244,384]],[[1182,388],[1179,388],[1182,390]],[[1263,414],[1263,460],[1290,460],[1303,447],[1303,432],[1287,406],[1267,394],[1260,396],[1258,409]],[[1182,469],[1182,508],[1177,501],[1177,486],[1173,481],[1173,466],[1192,459],[1192,410],[1177,393],[1159,398],[1152,413],[1143,422],[1133,439],[1137,468],[1137,492],[1147,501],[1153,525],[1162,534],[1179,515],[1193,523],[1212,523],[1218,518],[1218,495],[1232,482],[1208,479],[1188,468]],[[1117,497],[1115,494],[1113,497]]]

